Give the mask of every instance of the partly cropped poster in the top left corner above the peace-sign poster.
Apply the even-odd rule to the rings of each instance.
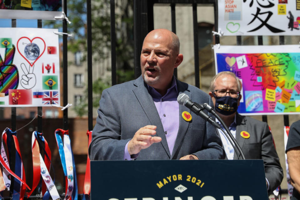
[[[0,18],[55,20],[62,10],[62,0],[0,0]]]

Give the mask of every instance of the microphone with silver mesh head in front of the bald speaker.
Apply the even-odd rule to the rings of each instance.
[[[185,105],[187,108],[191,109],[193,113],[202,117],[205,121],[211,123],[214,127],[221,128],[217,122],[215,122],[210,116],[203,112],[204,108],[200,104],[192,102],[187,94],[179,94],[177,102],[180,105]]]

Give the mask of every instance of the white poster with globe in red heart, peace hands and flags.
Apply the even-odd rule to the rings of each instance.
[[[0,106],[60,105],[57,29],[0,28]]]

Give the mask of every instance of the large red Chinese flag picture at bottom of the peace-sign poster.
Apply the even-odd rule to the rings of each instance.
[[[9,105],[28,105],[32,104],[32,90],[29,89],[9,89]]]

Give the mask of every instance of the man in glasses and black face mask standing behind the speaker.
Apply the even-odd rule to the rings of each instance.
[[[241,82],[234,73],[220,72],[212,78],[209,95],[217,114],[236,138],[245,158],[263,160],[270,194],[280,185],[283,171],[267,123],[237,113],[242,98],[241,88]],[[217,119],[216,121],[221,125]],[[222,125],[221,127],[223,128]],[[221,130],[218,133],[227,159],[237,159],[237,152],[234,152],[228,138]]]

